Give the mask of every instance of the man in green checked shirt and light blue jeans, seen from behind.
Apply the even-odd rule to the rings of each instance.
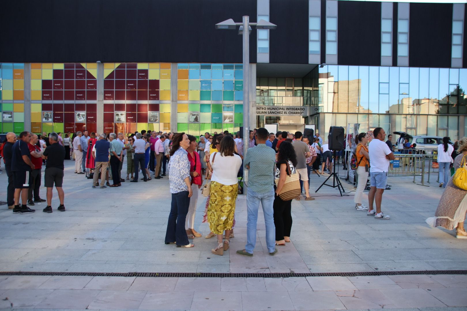
[[[274,165],[276,152],[266,145],[269,132],[265,128],[256,130],[256,145],[248,148],[243,164],[249,170],[247,194],[247,244],[245,249],[238,250],[237,254],[253,256],[256,244],[256,224],[258,221],[258,208],[260,202],[266,224],[266,245],[269,255],[274,256],[276,249],[276,227],[274,226]]]

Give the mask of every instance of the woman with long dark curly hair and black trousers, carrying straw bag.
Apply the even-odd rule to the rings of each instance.
[[[283,141],[279,145],[279,151],[276,153],[276,173],[275,178],[278,179],[277,187],[274,194],[274,225],[276,226],[276,245],[285,245],[285,242],[290,242],[290,230],[292,229],[292,200],[284,201],[279,197],[279,193],[284,186],[287,175],[295,174],[295,166],[297,166],[297,154],[292,144],[288,141]]]

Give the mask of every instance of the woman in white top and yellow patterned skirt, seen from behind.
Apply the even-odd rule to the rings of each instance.
[[[234,152],[235,142],[227,135],[220,141],[219,152],[213,152],[210,157],[213,172],[207,219],[211,232],[217,235],[218,246],[211,251],[221,256],[224,255],[224,250],[229,249],[230,230],[238,194],[237,173],[241,166],[241,158]],[[226,239],[222,242],[224,230]]]

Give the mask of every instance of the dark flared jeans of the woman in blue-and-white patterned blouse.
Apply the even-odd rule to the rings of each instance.
[[[188,191],[181,191],[172,194],[172,204],[170,206],[169,221],[167,222],[167,232],[165,242],[176,242],[177,245],[188,245],[188,236],[185,231],[186,214],[190,206]]]

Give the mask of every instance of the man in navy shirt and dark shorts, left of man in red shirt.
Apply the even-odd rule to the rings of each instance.
[[[31,187],[31,171],[35,168],[31,162],[31,152],[28,143],[31,141],[31,133],[23,131],[20,139],[12,147],[11,171],[13,172],[14,183],[14,207],[13,214],[34,213],[35,209],[30,209],[28,203],[28,189]],[[20,206],[20,196],[22,205]]]

